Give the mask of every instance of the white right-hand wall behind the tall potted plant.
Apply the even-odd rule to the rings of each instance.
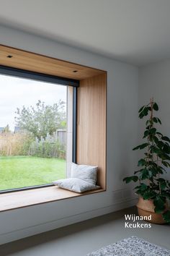
[[[153,97],[158,103],[159,111],[155,112],[162,125],[160,131],[170,137],[170,59],[150,64],[139,69],[139,105],[143,106]],[[139,121],[139,141],[143,133],[144,121]],[[170,168],[165,175],[170,179]]]

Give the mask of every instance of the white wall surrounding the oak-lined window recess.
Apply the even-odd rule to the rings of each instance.
[[[0,213],[0,244],[135,204],[122,178],[137,162],[138,68],[55,41],[0,27],[0,42],[107,70],[107,192]]]

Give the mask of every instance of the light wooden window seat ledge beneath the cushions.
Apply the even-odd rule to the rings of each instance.
[[[30,189],[19,192],[12,192],[0,195],[0,212],[24,208],[30,205],[39,205],[45,202],[54,202],[71,197],[80,197],[97,192],[104,192],[104,189],[91,190],[82,194],[71,192],[59,187],[45,187]]]

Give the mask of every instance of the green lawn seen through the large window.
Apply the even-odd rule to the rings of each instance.
[[[0,190],[48,184],[65,177],[65,160],[32,156],[0,157]]]

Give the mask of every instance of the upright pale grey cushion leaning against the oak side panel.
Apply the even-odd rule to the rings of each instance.
[[[83,179],[85,182],[96,185],[97,183],[97,166],[71,164],[71,178]]]

